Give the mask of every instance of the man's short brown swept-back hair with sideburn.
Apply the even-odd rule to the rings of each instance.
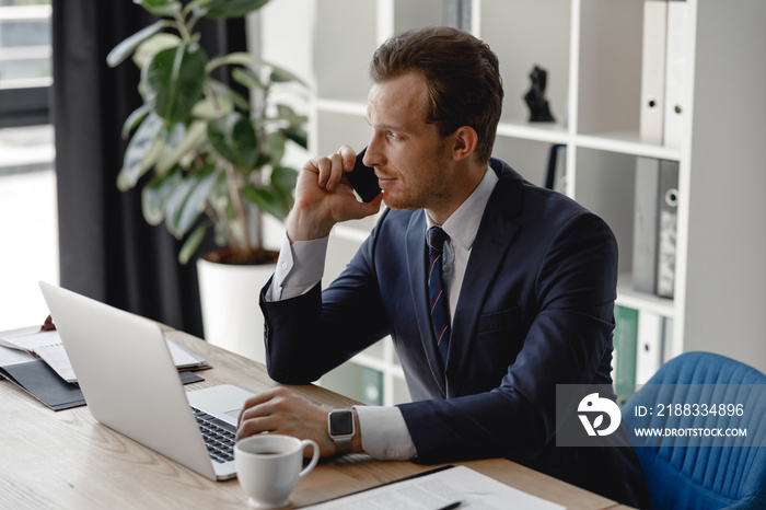
[[[476,158],[492,153],[502,112],[502,79],[497,55],[473,35],[449,26],[405,32],[373,54],[370,79],[382,83],[408,72],[420,73],[428,89],[426,123],[442,138],[462,126],[478,135]]]

